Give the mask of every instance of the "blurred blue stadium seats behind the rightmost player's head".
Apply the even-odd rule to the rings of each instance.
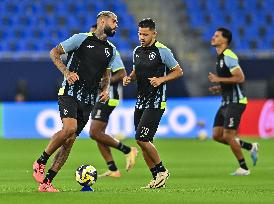
[[[218,27],[233,32],[234,49],[274,50],[274,0],[182,0],[189,24],[209,41]]]

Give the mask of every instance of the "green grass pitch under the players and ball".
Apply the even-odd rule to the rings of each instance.
[[[251,139],[247,139],[252,141]],[[125,159],[113,150],[122,177],[103,178],[95,192],[79,192],[74,172],[81,164],[92,164],[98,172],[106,169],[94,142],[78,140],[70,158],[53,184],[60,193],[39,193],[32,179],[32,163],[47,140],[0,139],[0,203],[274,203],[274,140],[259,140],[260,157],[252,167],[245,151],[251,175],[232,177],[238,165],[230,149],[211,140],[159,139],[155,141],[164,164],[171,172],[165,189],[141,190],[150,180],[141,154],[135,168],[127,173]],[[135,145],[133,140],[126,144]],[[50,164],[50,162],[49,162]]]

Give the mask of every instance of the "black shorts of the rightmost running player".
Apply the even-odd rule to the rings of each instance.
[[[240,103],[221,106],[215,115],[213,127],[221,126],[225,129],[237,130],[245,107],[245,104]]]

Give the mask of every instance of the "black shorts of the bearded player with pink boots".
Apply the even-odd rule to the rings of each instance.
[[[77,120],[76,135],[78,136],[89,120],[89,115],[93,105],[85,104],[84,102],[78,101],[72,96],[59,96],[58,105],[60,117],[62,119],[74,118]]]

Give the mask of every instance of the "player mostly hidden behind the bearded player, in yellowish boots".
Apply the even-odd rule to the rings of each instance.
[[[95,32],[96,28],[97,25],[93,25],[91,32]],[[110,78],[110,98],[107,102],[96,102],[91,114],[92,122],[90,126],[90,137],[97,142],[97,146],[100,150],[100,153],[108,166],[108,171],[99,175],[99,177],[121,176],[121,173],[114,162],[110,147],[114,147],[126,155],[127,171],[133,168],[135,164],[135,157],[137,156],[137,149],[135,147],[130,148],[105,133],[106,127],[108,125],[109,116],[115,109],[115,107],[119,104],[119,83],[123,80],[123,77],[126,76],[123,61],[120,57],[119,52],[116,52],[117,60],[115,64],[115,69],[112,69],[112,75]]]

